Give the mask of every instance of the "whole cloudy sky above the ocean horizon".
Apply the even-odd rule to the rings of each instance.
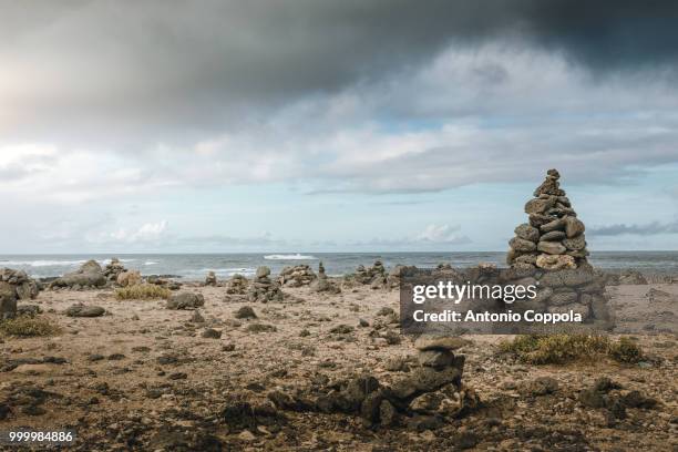
[[[678,3],[0,0],[0,254],[678,249]]]

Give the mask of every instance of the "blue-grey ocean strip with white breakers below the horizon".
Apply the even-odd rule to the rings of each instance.
[[[288,265],[307,264],[317,268],[322,261],[332,276],[352,273],[360,264],[372,265],[380,259],[387,267],[397,264],[421,268],[449,263],[453,267],[468,267],[479,263],[504,266],[505,253],[312,253],[312,254],[134,254],[116,255],[129,269],[142,275],[176,275],[189,280],[203,279],[207,271],[220,278],[235,274],[251,276],[258,266],[269,266],[278,273]],[[100,264],[110,261],[110,255],[0,255],[0,268],[25,270],[32,277],[53,277],[73,271],[89,259]],[[678,274],[678,251],[599,251],[593,253],[590,263],[604,269],[634,268],[647,274]]]

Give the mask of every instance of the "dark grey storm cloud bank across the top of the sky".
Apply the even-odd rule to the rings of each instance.
[[[596,73],[674,68],[678,56],[678,3],[669,1],[2,1],[0,8],[0,61],[27,70],[37,84],[12,91],[17,114],[59,111],[51,121],[61,129],[83,111],[143,117],[146,130],[172,119],[209,127],[261,103],[381,80],[450,44],[517,39]],[[501,68],[486,75],[505,76]]]

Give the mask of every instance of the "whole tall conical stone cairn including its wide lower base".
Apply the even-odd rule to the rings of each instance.
[[[585,323],[609,329],[614,320],[605,294],[607,276],[588,264],[584,223],[576,217],[558,179],[558,172],[549,170],[535,197],[525,205],[530,223],[515,228],[506,257],[511,267],[499,271],[499,281],[537,285],[534,300],[516,302],[513,308],[574,311]]]

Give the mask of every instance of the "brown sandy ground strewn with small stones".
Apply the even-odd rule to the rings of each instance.
[[[670,294],[662,302],[672,306],[658,309],[675,312],[676,284],[616,286],[608,292],[623,307],[619,320],[635,321],[634,306],[649,302],[650,289]],[[398,340],[384,339],[383,332],[397,332],[398,323],[386,325],[388,316],[378,315],[384,307],[398,312],[399,292],[369,286],[337,295],[285,288],[284,302],[248,304],[226,296],[224,287],[196,284],[183,290],[204,295],[204,323],[191,321],[194,311],[165,309],[164,300],[116,300],[111,289],[42,291],[32,302],[63,332],[0,339],[0,404],[6,401],[11,410],[0,420],[0,431],[70,428],[78,439],[69,450],[82,451],[218,450],[218,444],[223,450],[336,451],[678,449],[678,349],[670,333],[635,335],[648,357],[641,364],[602,359],[531,366],[500,353],[497,345],[506,337],[469,337],[471,345],[461,350],[466,356],[463,383],[475,390],[481,407],[436,430],[371,429],[355,414],[310,411],[280,411],[285,420],[279,422],[229,429],[224,410],[234,399],[266,403],[271,391],[328,384],[356,373],[389,383],[403,373],[387,370],[394,362],[415,366],[413,339],[401,336],[400,343],[389,343]],[[62,315],[76,302],[101,306],[109,315]],[[251,306],[258,319],[234,319],[243,306]],[[359,327],[360,319],[370,326]],[[675,318],[667,319],[675,325]],[[386,326],[376,330],[376,322]],[[275,331],[253,332],[250,323]],[[330,332],[339,325],[355,329]],[[204,338],[207,328],[220,331],[220,338]],[[44,357],[58,359],[30,363]],[[604,376],[659,404],[628,409],[626,419],[610,425],[606,410],[577,401]],[[557,380],[557,390],[545,396],[524,390],[540,377]],[[45,391],[40,402],[35,389]]]

